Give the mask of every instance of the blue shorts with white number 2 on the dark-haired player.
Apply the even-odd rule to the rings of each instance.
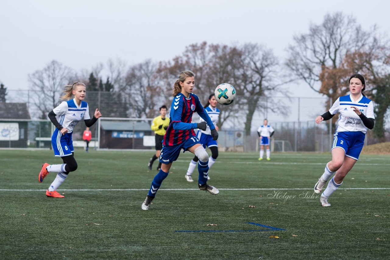
[[[333,148],[341,148],[345,155],[355,159],[359,159],[360,152],[362,152],[365,134],[358,132],[336,132],[333,139]]]

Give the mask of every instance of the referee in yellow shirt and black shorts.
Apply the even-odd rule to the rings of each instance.
[[[156,154],[154,154],[153,157],[150,158],[150,161],[147,164],[147,168],[149,168],[149,170],[152,170],[153,162],[160,157],[161,149],[163,149],[162,141],[164,139],[164,134],[169,126],[169,119],[165,117],[166,114],[167,106],[163,105],[160,108],[160,115],[153,119],[152,125],[150,127],[154,131],[154,134],[156,136]],[[160,168],[161,163],[159,162],[157,170],[159,171]]]

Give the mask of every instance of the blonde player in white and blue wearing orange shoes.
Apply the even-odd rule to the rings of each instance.
[[[39,172],[38,181],[43,182],[43,179],[49,172],[58,172],[53,183],[46,191],[46,196],[53,198],[64,198],[56,190],[64,182],[69,172],[77,169],[76,160],[73,157],[73,142],[72,133],[73,127],[80,120],[84,119],[85,126],[91,127],[96,120],[101,117],[100,111],[95,110],[94,117],[89,117],[89,107],[85,98],[84,83],[74,82],[73,85],[65,86],[64,95],[60,97],[63,101],[59,106],[54,108],[49,113],[49,118],[56,127],[53,136],[51,136],[51,145],[53,146],[54,156],[61,157],[64,163],[42,165]]]

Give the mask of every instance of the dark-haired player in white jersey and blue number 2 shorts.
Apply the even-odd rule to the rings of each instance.
[[[353,74],[349,78],[351,94],[339,97],[328,112],[316,117],[316,123],[319,124],[340,113],[332,145],[332,161],[326,164],[323,175],[314,186],[314,192],[321,193],[325,183],[333,173],[336,173],[320,197],[323,207],[330,206],[329,196],[340,187],[347,173],[359,159],[367,128],[374,128],[374,105],[363,95],[364,89],[364,77]]]

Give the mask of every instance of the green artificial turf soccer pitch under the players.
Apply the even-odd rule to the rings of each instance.
[[[389,156],[361,155],[322,207],[313,187],[330,153],[221,152],[207,183],[181,154],[150,210],[149,152],[76,150],[76,172],[47,198],[49,150],[0,150],[1,259],[278,259],[390,257]],[[255,207],[249,207],[249,206]],[[276,236],[278,238],[273,238]]]

